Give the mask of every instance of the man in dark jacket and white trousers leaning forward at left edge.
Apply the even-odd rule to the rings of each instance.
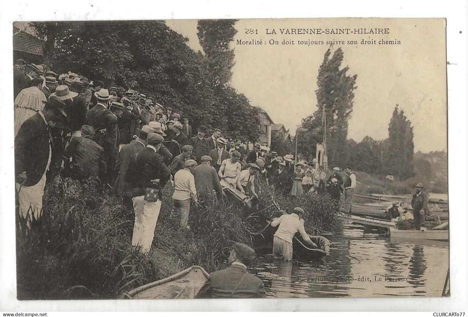
[[[42,110],[23,122],[15,137],[15,180],[20,217],[30,228],[42,213],[42,196],[52,158],[51,129],[63,129],[65,104],[52,96]]]

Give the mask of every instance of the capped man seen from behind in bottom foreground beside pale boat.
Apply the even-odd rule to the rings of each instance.
[[[253,259],[252,248],[234,243],[227,259],[230,266],[210,274],[195,298],[265,298],[262,280],[247,272]]]

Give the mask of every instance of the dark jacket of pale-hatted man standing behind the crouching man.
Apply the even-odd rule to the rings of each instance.
[[[94,140],[97,144],[115,145],[117,142],[117,116],[114,115],[109,109],[104,108],[102,105],[95,105],[86,115],[86,124],[92,126],[96,130]],[[105,129],[104,133],[100,131]]]

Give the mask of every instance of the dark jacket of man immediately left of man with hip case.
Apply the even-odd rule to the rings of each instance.
[[[126,181],[127,172],[130,170],[132,159],[135,155],[145,148],[145,144],[133,140],[130,144],[124,144],[118,153],[116,162],[116,171],[118,171],[117,180],[114,185],[114,192],[121,196],[131,196],[131,184]]]

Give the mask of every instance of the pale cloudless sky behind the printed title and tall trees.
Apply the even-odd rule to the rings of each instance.
[[[168,20],[168,26],[189,39],[195,51],[197,20]],[[243,19],[231,43],[235,53],[232,86],[245,94],[253,106],[265,109],[275,123],[295,134],[303,118],[316,110],[318,69],[329,45],[298,41],[345,41],[333,45],[344,52],[342,66],[357,74],[348,138],[359,142],[369,136],[388,137],[388,123],[395,105],[411,121],[415,152],[447,150],[446,51],[443,19]],[[284,35],[279,29],[388,29],[388,34]],[[258,34],[245,34],[245,29]],[[268,29],[272,33],[266,34]],[[255,32],[255,31],[254,31]],[[240,45],[237,40],[262,45]],[[361,44],[361,40],[399,40],[401,44]],[[278,45],[270,45],[270,40]],[[294,44],[282,45],[282,40]],[[264,44],[264,42],[267,42]]]

